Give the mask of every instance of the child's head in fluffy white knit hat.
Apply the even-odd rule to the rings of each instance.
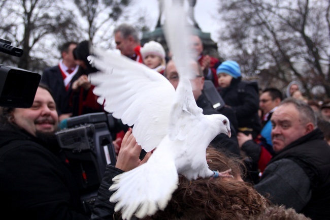
[[[165,50],[155,41],[145,43],[140,50],[143,63],[149,68],[163,74],[165,70]]]

